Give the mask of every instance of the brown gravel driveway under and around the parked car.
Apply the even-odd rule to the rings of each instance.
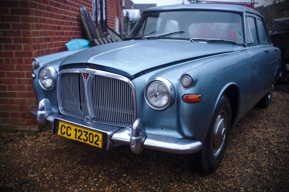
[[[289,94],[274,92],[269,108],[255,107],[231,131],[210,175],[192,172],[188,155],[0,130],[0,191],[288,191],[288,129]]]

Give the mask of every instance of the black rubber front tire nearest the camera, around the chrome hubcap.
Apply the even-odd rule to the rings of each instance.
[[[216,138],[215,137],[216,135],[213,133],[216,132],[216,130],[219,130],[218,129],[219,127],[222,127],[222,126],[217,126],[218,128],[216,128],[216,123],[219,125],[220,123],[219,116],[224,112],[226,113],[226,116],[227,116],[226,120],[223,120],[223,122],[226,123],[226,125],[224,125],[225,137],[224,139],[222,139],[222,145],[220,146],[219,151],[214,150],[214,152],[212,152],[214,149],[213,143],[216,143],[216,140],[214,139]],[[223,94],[221,98],[219,99],[216,109],[214,111],[214,114],[210,123],[210,127],[207,132],[207,136],[203,143],[203,148],[199,152],[193,154],[194,170],[204,173],[204,174],[209,174],[219,167],[222,161],[222,158],[224,156],[227,143],[228,143],[228,136],[229,136],[230,128],[231,128],[231,104],[227,95]],[[223,137],[223,134],[222,134],[222,137]]]

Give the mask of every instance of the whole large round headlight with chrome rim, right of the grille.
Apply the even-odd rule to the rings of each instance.
[[[165,110],[174,102],[175,90],[167,79],[157,77],[145,86],[144,98],[153,109]]]

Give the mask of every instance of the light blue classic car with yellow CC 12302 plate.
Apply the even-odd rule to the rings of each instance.
[[[280,61],[254,9],[152,7],[126,41],[34,58],[31,113],[53,134],[135,154],[192,154],[211,173],[230,129],[258,102],[270,104]]]

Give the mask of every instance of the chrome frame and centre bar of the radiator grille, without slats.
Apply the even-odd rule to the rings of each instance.
[[[118,75],[118,74],[115,74],[115,73],[110,73],[110,72],[107,72],[107,71],[101,71],[101,70],[96,70],[96,69],[88,69],[88,68],[64,69],[64,70],[61,70],[61,71],[58,72],[57,85],[56,85],[57,86],[57,103],[58,103],[59,112],[62,115],[71,116],[71,114],[69,112],[64,111],[64,107],[63,107],[62,101],[60,99],[61,95],[59,94],[60,91],[61,91],[61,77],[65,73],[80,73],[80,74],[81,73],[89,73],[89,74],[94,75],[94,76],[96,76],[96,75],[105,76],[105,77],[110,77],[110,78],[113,78],[113,79],[119,79],[119,80],[122,80],[122,81],[126,82],[130,86],[130,88],[132,90],[133,110],[134,110],[133,122],[135,121],[136,115],[137,115],[136,93],[135,93],[135,86],[133,85],[132,81],[129,80],[128,78],[126,78],[125,76],[121,76],[121,75]],[[88,80],[89,80],[89,78],[88,78]],[[87,82],[88,82],[88,80],[87,80]],[[90,80],[92,81],[93,78],[90,78]],[[87,83],[86,83],[86,85],[87,85]],[[93,94],[92,93],[92,89],[87,89],[86,98],[88,99],[87,95],[92,95],[92,94]],[[89,102],[87,102],[87,105],[89,105],[91,103],[92,103],[92,100],[89,100]],[[92,118],[95,117],[94,110],[90,109],[89,113],[91,114]],[[75,116],[73,116],[73,117],[75,117]],[[79,118],[79,117],[75,117],[75,118],[82,119],[82,118]],[[94,122],[94,121],[92,121],[92,122]],[[118,124],[118,125],[110,124],[109,122],[97,122],[97,123],[106,124],[106,125],[113,125],[113,126],[118,126],[118,127],[127,127],[127,126],[122,126],[120,124]]]

